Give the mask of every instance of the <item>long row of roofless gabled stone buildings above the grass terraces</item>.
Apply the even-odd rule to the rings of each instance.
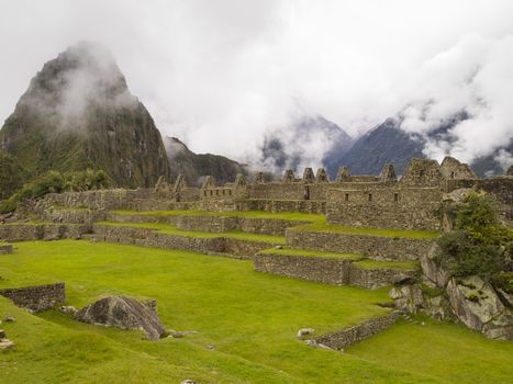
[[[224,185],[218,185],[208,176],[201,188],[188,187],[178,177],[172,187],[160,182],[155,189],[53,194],[43,204],[94,211],[306,212],[325,214],[330,224],[436,230],[440,228],[444,194],[460,188],[494,194],[502,204],[502,214],[513,217],[511,176],[477,179],[467,165],[450,157],[442,165],[412,159],[399,179],[391,165],[386,165],[379,177],[352,176],[347,168],[341,167],[334,181],[328,180],[324,169],[314,174],[311,168],[304,170],[301,179],[288,170],[282,180],[266,181],[259,172],[250,183],[238,176]],[[76,217],[74,222],[86,219]]]

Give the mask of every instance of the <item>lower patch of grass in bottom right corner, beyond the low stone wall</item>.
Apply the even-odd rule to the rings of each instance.
[[[400,341],[404,337],[406,350]],[[416,324],[401,321],[347,352],[390,368],[440,375],[446,383],[511,383],[513,377],[513,342],[487,340],[462,326],[425,317]]]

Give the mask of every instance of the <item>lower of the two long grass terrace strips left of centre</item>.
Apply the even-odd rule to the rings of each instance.
[[[283,236],[271,236],[271,235],[258,235],[249,234],[242,230],[232,230],[227,233],[210,233],[210,231],[193,231],[193,230],[181,230],[175,225],[164,223],[118,223],[118,222],[97,222],[97,225],[108,225],[115,227],[132,227],[132,228],[149,228],[159,231],[160,234],[187,236],[187,237],[202,237],[202,238],[215,238],[215,237],[227,237],[247,241],[260,241],[260,242],[272,242],[272,244],[285,244],[286,238]]]

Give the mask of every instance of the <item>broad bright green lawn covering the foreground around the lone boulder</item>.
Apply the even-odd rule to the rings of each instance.
[[[0,353],[0,383],[506,383],[513,343],[461,326],[400,323],[345,353],[312,349],[321,335],[387,313],[367,291],[287,279],[249,261],[187,251],[62,240],[18,242],[0,257],[0,287],[65,281],[69,305],[101,295],[155,297],[167,328],[197,330],[150,342],[136,331],[34,316],[0,297],[16,343]],[[214,350],[205,348],[213,345]]]

